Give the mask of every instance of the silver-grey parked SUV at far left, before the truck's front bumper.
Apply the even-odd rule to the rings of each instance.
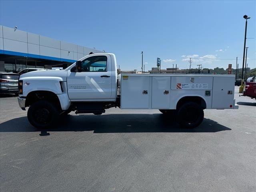
[[[0,94],[18,95],[18,79],[20,74],[0,72]]]

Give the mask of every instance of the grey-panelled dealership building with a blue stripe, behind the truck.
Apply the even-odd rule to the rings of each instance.
[[[90,52],[103,51],[0,26],[0,71],[66,68]]]

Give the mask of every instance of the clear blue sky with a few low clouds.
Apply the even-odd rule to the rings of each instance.
[[[116,54],[121,70],[256,68],[256,1],[0,1],[0,24]]]

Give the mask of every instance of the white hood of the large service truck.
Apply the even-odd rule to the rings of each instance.
[[[22,74],[20,79],[24,77],[60,77],[63,81],[66,81],[67,73],[68,70],[38,70]]]

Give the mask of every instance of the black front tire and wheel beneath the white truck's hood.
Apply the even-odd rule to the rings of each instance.
[[[51,102],[40,100],[28,109],[28,121],[36,128],[51,128],[59,118],[58,108]]]

